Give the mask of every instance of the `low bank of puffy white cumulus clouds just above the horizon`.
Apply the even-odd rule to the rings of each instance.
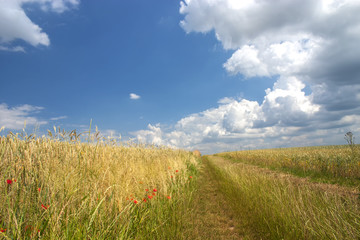
[[[174,126],[149,124],[134,132],[141,141],[178,148],[198,148],[206,153],[279,146],[333,144],[342,140],[339,127],[354,128],[360,117],[327,120],[329,116],[313,95],[303,92],[305,84],[295,77],[281,77],[273,89],[266,90],[261,104],[246,99],[223,98],[217,108],[189,115]],[[322,129],[333,137],[324,137]],[[336,135],[337,134],[337,135]],[[341,133],[340,133],[341,134]],[[336,139],[336,137],[338,137]]]

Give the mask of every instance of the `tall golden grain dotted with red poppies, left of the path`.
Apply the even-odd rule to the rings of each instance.
[[[186,238],[192,153],[52,135],[0,137],[0,238]]]

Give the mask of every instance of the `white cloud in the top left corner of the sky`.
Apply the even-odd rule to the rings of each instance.
[[[31,21],[24,11],[24,5],[39,5],[44,11],[62,13],[77,6],[79,0],[2,0],[0,1],[0,50],[24,51],[21,46],[10,47],[16,39],[33,45],[50,45],[49,36]]]

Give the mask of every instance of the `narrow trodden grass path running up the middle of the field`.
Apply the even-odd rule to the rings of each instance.
[[[248,239],[244,238],[242,228],[206,162],[200,169],[191,216],[193,239]]]

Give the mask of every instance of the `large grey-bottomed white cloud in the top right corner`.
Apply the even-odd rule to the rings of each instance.
[[[229,73],[359,83],[360,1],[238,2],[186,0],[180,7],[186,32],[214,30],[225,49],[236,50],[224,64]]]

